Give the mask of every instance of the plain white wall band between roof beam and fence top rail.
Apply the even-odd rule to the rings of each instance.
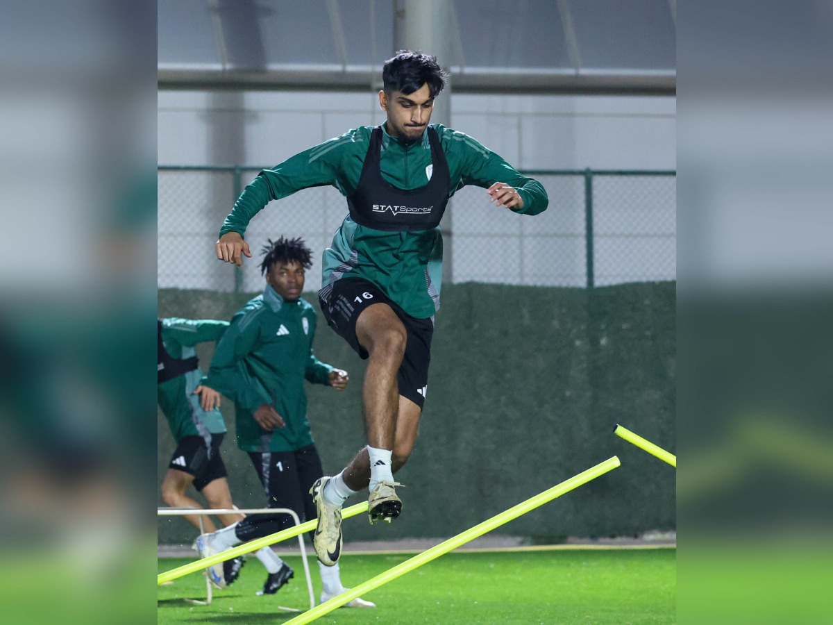
[[[234,114],[206,116],[210,101],[201,92],[160,93],[159,163],[208,164],[207,123]],[[244,102],[247,164],[257,166],[384,120],[375,94],[247,92]],[[451,126],[521,168],[676,167],[673,97],[461,94],[452,96]]]

